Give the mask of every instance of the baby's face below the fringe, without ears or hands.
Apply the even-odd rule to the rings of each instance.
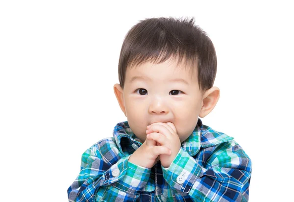
[[[155,122],[172,122],[181,142],[192,134],[203,105],[197,72],[194,74],[184,67],[176,67],[170,59],[157,65],[145,63],[127,69],[123,111],[141,142],[146,140],[146,127]]]

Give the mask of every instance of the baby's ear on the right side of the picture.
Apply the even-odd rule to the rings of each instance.
[[[202,107],[199,116],[203,118],[209,114],[216,106],[219,98],[220,89],[218,87],[212,87],[211,89],[206,90],[202,97]]]

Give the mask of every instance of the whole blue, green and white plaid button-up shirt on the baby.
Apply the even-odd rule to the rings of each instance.
[[[169,168],[128,162],[142,145],[127,121],[82,155],[70,202],[247,202],[251,160],[233,137],[202,125],[182,142]]]

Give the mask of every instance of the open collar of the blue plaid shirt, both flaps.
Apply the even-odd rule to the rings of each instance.
[[[135,151],[136,145],[137,147],[142,145],[138,137],[130,129],[127,121],[120,122],[115,126],[113,136],[121,153],[124,153],[123,148],[127,150],[133,148]],[[198,118],[194,131],[182,142],[181,147],[193,157],[199,152],[200,147],[214,146],[231,139],[233,139],[233,137],[203,125],[201,119]]]

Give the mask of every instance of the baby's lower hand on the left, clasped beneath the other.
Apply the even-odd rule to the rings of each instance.
[[[145,168],[152,168],[159,160],[159,155],[162,154],[169,156],[171,150],[157,145],[154,140],[146,138],[145,142],[129,157],[128,161]]]

